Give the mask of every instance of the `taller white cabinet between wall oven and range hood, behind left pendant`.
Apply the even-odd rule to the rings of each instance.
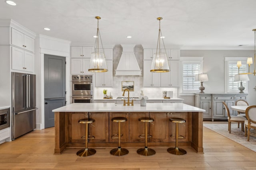
[[[95,73],[95,87],[112,87],[113,86],[113,61],[106,61],[108,66],[107,72]]]

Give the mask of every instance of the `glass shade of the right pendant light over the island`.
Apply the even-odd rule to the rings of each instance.
[[[169,64],[166,53],[155,53],[151,64],[150,72],[169,72]]]

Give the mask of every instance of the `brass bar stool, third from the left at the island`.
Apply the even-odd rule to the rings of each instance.
[[[152,136],[148,135],[148,122],[152,122],[152,121],[154,121],[154,119],[150,118],[150,117],[141,117],[138,120],[141,122],[145,122],[145,134],[139,136],[139,137],[145,138],[145,147],[138,149],[137,153],[140,155],[143,155],[143,156],[154,155],[154,154],[156,154],[156,151],[154,149],[148,148],[148,138],[152,137]]]

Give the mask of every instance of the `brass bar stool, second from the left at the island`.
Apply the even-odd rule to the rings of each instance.
[[[129,150],[121,148],[121,122],[127,121],[126,117],[114,117],[111,119],[113,122],[118,122],[118,134],[112,135],[112,139],[118,139],[118,148],[110,150],[110,154],[114,156],[124,156],[129,153]],[[117,136],[117,137],[116,137]]]

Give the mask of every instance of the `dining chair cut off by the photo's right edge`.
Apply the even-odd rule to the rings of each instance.
[[[245,136],[247,141],[250,141],[250,129],[256,129],[256,106],[249,106],[245,110],[247,120],[244,121]]]

